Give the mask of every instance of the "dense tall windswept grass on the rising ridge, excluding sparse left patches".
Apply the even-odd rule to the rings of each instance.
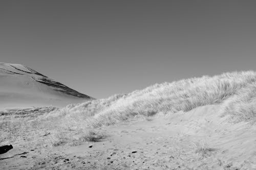
[[[136,115],[151,116],[158,112],[172,114],[211,104],[223,105],[226,113],[248,119],[253,117],[255,110],[255,81],[256,73],[253,71],[203,76],[155,84],[118,98],[91,101],[61,111],[68,113],[66,118],[74,119],[84,127],[108,126]]]

